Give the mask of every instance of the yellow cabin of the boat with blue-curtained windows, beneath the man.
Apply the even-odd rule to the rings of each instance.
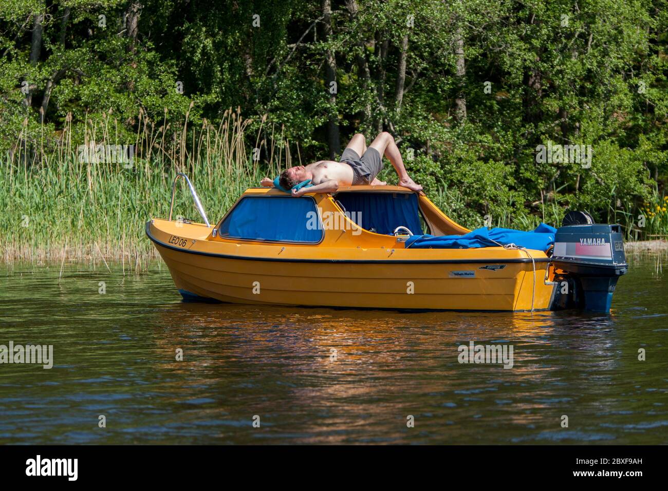
[[[337,247],[349,247],[348,240],[341,240],[347,234],[363,242],[382,239],[396,247],[413,234],[467,232],[426,196],[400,186],[345,186],[332,194],[299,198],[274,188],[250,188],[220,220],[212,238],[304,245],[338,242]]]

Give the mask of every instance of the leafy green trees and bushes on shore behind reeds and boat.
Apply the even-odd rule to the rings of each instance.
[[[0,0],[0,146],[240,107],[302,160],[391,132],[470,226],[619,220],[663,194],[667,44],[666,0]],[[591,167],[536,162],[548,142],[591,146]]]

